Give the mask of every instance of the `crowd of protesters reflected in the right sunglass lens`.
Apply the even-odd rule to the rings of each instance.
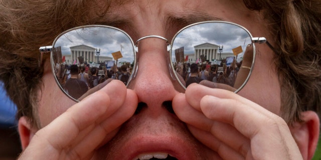
[[[177,74],[181,75],[186,82],[186,87],[191,83],[200,83],[202,80],[209,80],[216,83],[223,83],[234,87],[237,73],[241,62],[235,60],[230,66],[226,63],[211,64],[206,63],[175,63]]]

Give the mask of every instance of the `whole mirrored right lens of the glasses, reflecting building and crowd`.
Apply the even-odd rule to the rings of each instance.
[[[197,82],[239,91],[253,68],[252,35],[229,22],[202,22],[183,28],[172,41],[173,72],[186,88]]]

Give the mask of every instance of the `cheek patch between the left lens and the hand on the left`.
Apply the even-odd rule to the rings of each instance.
[[[43,82],[44,88],[42,92],[38,92],[41,97],[38,105],[38,116],[42,127],[76,103],[60,90],[51,72],[44,74]]]

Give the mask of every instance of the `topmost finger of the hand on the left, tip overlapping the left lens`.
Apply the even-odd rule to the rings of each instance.
[[[47,133],[45,135],[50,144],[58,150],[65,146],[74,145],[75,141],[81,141],[76,139],[81,137],[79,135],[83,135],[81,131],[86,130],[87,127],[92,127],[91,125],[97,124],[97,120],[100,121],[99,119],[106,118],[106,115],[110,115],[117,110],[121,102],[116,101],[124,99],[126,96],[125,86],[121,87],[123,84],[119,84],[121,83],[117,81],[110,82],[106,85],[108,91],[101,89],[93,93],[52,121],[46,127]],[[120,96],[111,93],[117,93]],[[111,101],[109,95],[113,95],[116,100]]]

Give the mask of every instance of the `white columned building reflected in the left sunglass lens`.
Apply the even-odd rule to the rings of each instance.
[[[100,50],[100,53],[102,53],[102,52],[103,52],[103,50]],[[78,63],[79,56],[84,57],[85,62],[97,63],[97,60],[99,60],[99,62],[103,62],[105,60],[107,60],[107,61],[112,60],[112,57],[110,57],[110,56],[99,55],[99,57],[98,57],[96,55],[96,48],[88,46],[88,45],[84,45],[84,44],[71,46],[70,53],[71,54],[64,55],[67,63],[73,63],[75,61],[75,59],[77,60],[77,63]]]

